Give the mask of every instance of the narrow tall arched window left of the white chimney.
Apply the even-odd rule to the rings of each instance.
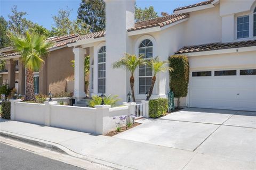
[[[106,46],[102,46],[98,53],[98,93],[106,92]]]

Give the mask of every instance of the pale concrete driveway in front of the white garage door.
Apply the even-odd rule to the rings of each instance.
[[[186,108],[141,122],[115,138],[196,152],[193,169],[256,169],[256,112]]]

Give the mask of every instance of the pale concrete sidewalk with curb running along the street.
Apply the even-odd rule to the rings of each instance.
[[[1,135],[52,146],[116,169],[183,169],[195,152],[0,119]]]

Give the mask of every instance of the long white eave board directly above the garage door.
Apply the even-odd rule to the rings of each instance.
[[[256,51],[255,46],[228,48],[228,49],[217,49],[217,50],[209,50],[209,51],[204,51],[204,52],[179,53],[179,54],[175,54],[175,55],[186,55],[188,57],[192,57],[192,56],[227,54],[227,53],[241,53],[241,52],[253,52],[253,51]]]

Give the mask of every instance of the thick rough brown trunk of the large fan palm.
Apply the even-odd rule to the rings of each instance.
[[[25,100],[35,100],[34,92],[34,72],[31,69],[26,70],[26,96]]]

